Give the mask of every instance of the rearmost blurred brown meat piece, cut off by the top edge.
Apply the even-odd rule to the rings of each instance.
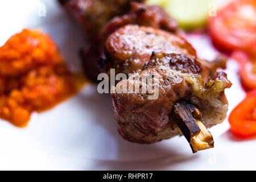
[[[114,16],[129,11],[131,1],[144,0],[58,0],[84,29],[90,40],[98,36],[106,23]]]

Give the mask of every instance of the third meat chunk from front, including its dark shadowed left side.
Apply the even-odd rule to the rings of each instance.
[[[162,28],[163,30],[170,32],[176,31],[177,28],[175,20],[165,13],[161,7],[147,6],[138,2],[131,3],[131,10],[129,13],[122,16],[117,16],[110,20],[103,30],[98,30],[99,35],[97,38],[94,38],[93,41],[90,41],[90,46],[82,50],[81,59],[82,64],[84,65],[84,71],[91,80],[97,80],[98,73],[103,71],[101,69],[102,67],[98,67],[97,63],[98,60],[100,60],[100,56],[104,52],[106,39],[108,39],[110,34],[117,31],[119,28],[126,26],[127,24],[138,24],[141,26]],[[103,55],[103,57],[104,56],[105,55]],[[150,55],[148,55],[146,59],[149,57]],[[104,63],[102,64],[104,65]]]

